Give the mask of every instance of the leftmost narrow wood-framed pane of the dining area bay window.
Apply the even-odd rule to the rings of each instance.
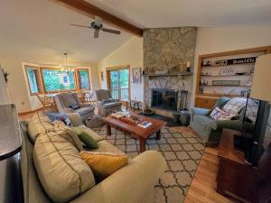
[[[40,84],[39,69],[27,66],[25,67],[25,71],[31,95],[41,93],[42,89]]]

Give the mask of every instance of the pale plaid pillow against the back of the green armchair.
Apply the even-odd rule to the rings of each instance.
[[[222,107],[223,111],[226,111],[232,115],[238,115],[244,106],[246,106],[247,98],[245,97],[235,97],[231,98],[226,105]]]

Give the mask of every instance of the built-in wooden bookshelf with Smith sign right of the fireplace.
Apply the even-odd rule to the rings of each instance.
[[[212,108],[219,97],[241,97],[251,88],[255,61],[271,46],[199,56],[195,106]]]

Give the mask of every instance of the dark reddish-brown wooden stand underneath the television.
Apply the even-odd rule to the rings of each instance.
[[[257,168],[248,165],[245,153],[235,148],[235,138],[241,132],[224,128],[219,146],[217,192],[239,202],[257,202],[255,186]]]

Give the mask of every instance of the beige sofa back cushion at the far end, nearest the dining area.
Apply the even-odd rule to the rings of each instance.
[[[28,123],[28,134],[32,143],[39,134],[44,134],[53,131],[53,125],[48,116],[35,114]]]

